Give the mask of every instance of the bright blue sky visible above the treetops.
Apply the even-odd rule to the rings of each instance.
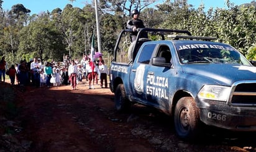
[[[83,8],[86,4],[91,4],[94,0],[76,0],[73,3],[68,0],[3,0],[2,9],[5,11],[11,10],[11,7],[15,4],[23,4],[26,9],[30,9],[30,15],[39,14],[40,12],[52,12],[53,9],[63,8],[66,4],[71,4],[73,7]],[[164,0],[161,0],[162,2]],[[240,5],[244,3],[250,3],[253,0],[229,0],[234,2],[235,5]],[[160,1],[157,1],[160,2]],[[188,4],[192,4],[195,8],[201,3],[204,3],[205,9],[208,10],[209,7],[219,7],[226,8],[226,0],[188,0]],[[155,3],[157,4],[157,3]]]

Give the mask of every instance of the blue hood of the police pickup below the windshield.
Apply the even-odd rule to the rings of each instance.
[[[256,67],[240,64],[185,64],[185,74],[212,80],[212,83],[231,86],[238,80],[256,80]]]

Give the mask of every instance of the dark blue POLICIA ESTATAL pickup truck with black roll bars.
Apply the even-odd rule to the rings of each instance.
[[[229,44],[185,30],[122,30],[110,67],[117,111],[144,104],[173,117],[178,137],[193,140],[206,124],[256,131],[256,67]],[[142,32],[148,38],[140,38]]]

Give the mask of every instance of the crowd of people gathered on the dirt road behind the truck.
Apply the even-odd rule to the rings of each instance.
[[[85,55],[81,61],[78,59],[70,60],[65,56],[63,62],[45,62],[43,64],[40,58],[34,57],[29,62],[22,60],[19,64],[11,65],[7,69],[7,62],[2,57],[0,61],[0,77],[5,82],[6,74],[9,75],[12,85],[21,87],[34,85],[35,87],[55,87],[60,85],[70,85],[76,90],[76,85],[83,80],[89,81],[89,89],[94,85],[101,88],[107,88],[107,75],[109,71],[104,63],[103,57],[99,56],[94,62]],[[16,81],[16,83],[15,83]]]

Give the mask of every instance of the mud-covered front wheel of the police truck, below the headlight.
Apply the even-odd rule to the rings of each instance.
[[[199,137],[201,121],[199,109],[193,98],[179,99],[175,106],[174,124],[178,137],[185,140],[194,140]]]

